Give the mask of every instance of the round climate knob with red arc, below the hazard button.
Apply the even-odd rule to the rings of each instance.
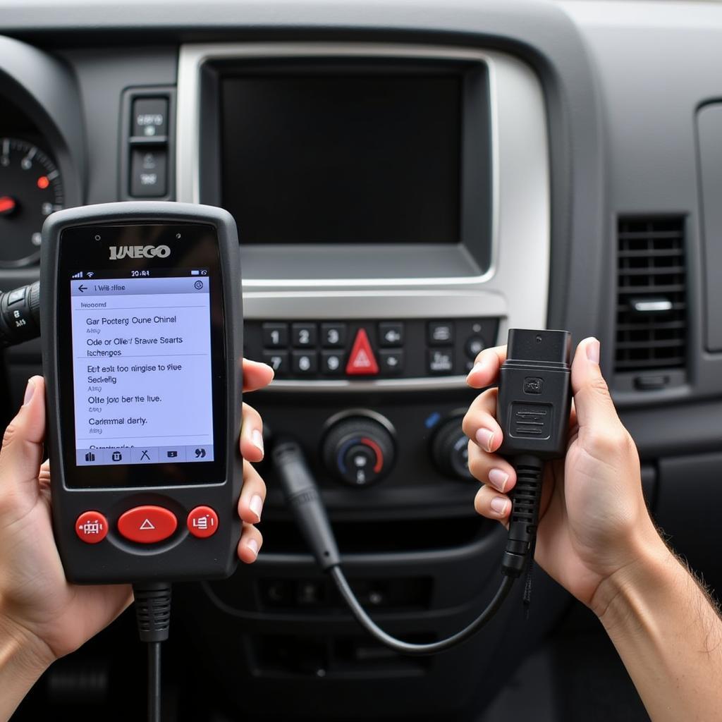
[[[393,438],[385,426],[373,419],[348,417],[326,434],[323,461],[339,481],[365,487],[378,482],[391,469]]]

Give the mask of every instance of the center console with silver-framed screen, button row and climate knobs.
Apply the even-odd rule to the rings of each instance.
[[[303,445],[352,586],[379,621],[409,640],[460,628],[497,583],[503,539],[474,513],[466,374],[510,326],[547,321],[539,80],[511,55],[463,47],[184,45],[177,98],[178,200],[234,214],[245,356],[276,370],[252,400],[266,445]],[[230,695],[271,716],[289,710],[262,693],[279,680],[292,697],[323,677],[324,708],[339,715],[362,680],[385,694],[444,677],[437,689],[461,695],[448,661],[482,648],[440,666],[365,638],[261,471],[261,557],[193,601],[217,624],[196,640],[207,658],[209,644],[243,648],[242,671],[214,670]],[[502,625],[479,639],[494,645]],[[239,677],[261,701],[238,699]],[[359,705],[360,717],[375,708]]]

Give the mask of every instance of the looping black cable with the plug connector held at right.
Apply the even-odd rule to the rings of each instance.
[[[471,624],[438,642],[414,644],[384,632],[365,612],[341,568],[341,555],[318,487],[300,445],[280,440],[271,458],[281,487],[303,537],[319,567],[331,575],[362,627],[393,651],[427,655],[446,651],[478,632],[494,617],[514,580],[534,560],[544,461],[566,451],[569,420],[571,336],[567,331],[509,331],[507,360],[501,367],[497,419],[504,433],[499,450],[516,469],[517,483],[501,571],[503,579],[486,609]],[[525,590],[528,602],[529,576]]]

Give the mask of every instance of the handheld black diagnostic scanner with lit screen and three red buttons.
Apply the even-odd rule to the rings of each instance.
[[[77,583],[235,567],[242,327],[232,217],[113,203],[43,227],[53,523]]]

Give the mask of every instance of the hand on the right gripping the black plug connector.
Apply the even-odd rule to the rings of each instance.
[[[497,383],[506,347],[485,349],[468,383]],[[637,449],[614,409],[599,368],[599,341],[585,339],[572,363],[574,401],[565,458],[546,464],[539,510],[536,561],[584,604],[594,608],[601,583],[662,544],[642,495]],[[497,389],[481,393],[464,417],[469,469],[482,487],[479,514],[508,526],[508,493],[516,473],[494,453],[502,443],[495,418]]]

